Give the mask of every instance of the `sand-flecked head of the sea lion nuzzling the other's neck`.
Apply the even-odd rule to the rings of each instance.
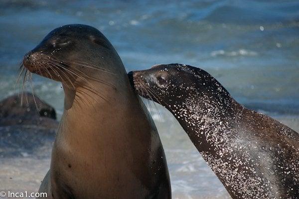
[[[148,70],[129,73],[131,84],[139,95],[163,106],[184,95],[195,86],[194,77],[182,64],[158,64]]]

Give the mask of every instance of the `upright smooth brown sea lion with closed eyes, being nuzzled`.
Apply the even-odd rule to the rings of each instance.
[[[54,199],[171,198],[156,128],[99,30],[58,27],[25,55],[23,65],[61,81],[65,93],[50,170],[39,192]]]

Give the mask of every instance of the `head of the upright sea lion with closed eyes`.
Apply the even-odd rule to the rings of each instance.
[[[82,24],[52,30],[22,61],[30,72],[74,88],[97,73],[113,73],[115,62],[121,60],[108,39],[98,29]]]

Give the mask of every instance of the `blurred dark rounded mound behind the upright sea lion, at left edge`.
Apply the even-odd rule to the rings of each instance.
[[[16,94],[0,101],[0,158],[45,157],[58,127],[56,112],[31,93],[23,97],[22,106],[21,100]]]

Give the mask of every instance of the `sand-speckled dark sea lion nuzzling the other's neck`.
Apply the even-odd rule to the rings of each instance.
[[[299,135],[237,103],[202,69],[130,72],[136,90],[166,107],[233,199],[298,199]]]

